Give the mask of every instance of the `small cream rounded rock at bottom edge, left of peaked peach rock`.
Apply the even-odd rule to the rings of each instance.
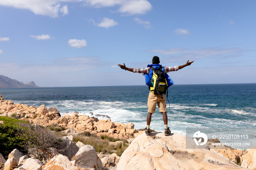
[[[15,170],[42,170],[44,164],[35,158],[27,158],[22,161],[19,167]]]

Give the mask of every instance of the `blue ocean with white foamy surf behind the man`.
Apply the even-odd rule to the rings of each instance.
[[[14,103],[55,107],[61,115],[79,112],[91,116],[92,112],[107,115],[113,122],[131,122],[136,129],[146,127],[146,85],[0,89],[0,93]],[[186,128],[256,128],[256,84],[172,85],[168,98],[172,133],[185,135]],[[150,128],[164,131],[158,107]]]

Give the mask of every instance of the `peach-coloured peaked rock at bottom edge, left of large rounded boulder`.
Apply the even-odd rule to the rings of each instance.
[[[64,155],[56,155],[50,161],[48,161],[42,170],[78,170]]]

